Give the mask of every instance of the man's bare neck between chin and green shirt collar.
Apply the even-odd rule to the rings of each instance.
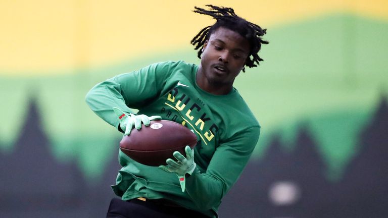
[[[201,66],[199,66],[198,68],[196,82],[202,90],[215,95],[226,95],[233,88],[233,83],[225,84],[225,83],[217,83],[216,81],[209,80],[209,78],[205,76]]]

